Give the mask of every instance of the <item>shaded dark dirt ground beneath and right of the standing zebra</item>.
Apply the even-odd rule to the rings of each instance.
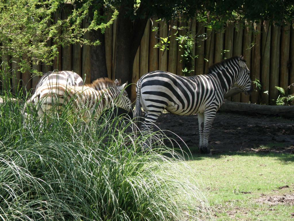
[[[192,152],[198,151],[197,115],[176,116],[165,113],[158,118],[156,125],[161,130],[178,135]],[[166,135],[183,146],[183,141],[177,136],[170,132],[166,132]],[[294,154],[294,119],[218,112],[211,129],[209,148],[212,153],[275,151]]]

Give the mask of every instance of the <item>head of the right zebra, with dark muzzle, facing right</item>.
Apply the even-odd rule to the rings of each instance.
[[[250,70],[248,69],[247,65],[245,64],[245,60],[243,56],[239,57],[238,65],[240,66],[240,72],[237,75],[235,86],[240,88],[245,95],[249,95],[252,93],[253,85],[250,79]]]

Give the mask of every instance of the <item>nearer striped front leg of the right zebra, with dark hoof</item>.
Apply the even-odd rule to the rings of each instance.
[[[204,111],[204,129],[203,129],[203,143],[201,147],[201,153],[210,154],[211,151],[208,148],[208,138],[211,131],[211,125],[216,117],[216,109],[208,109]]]

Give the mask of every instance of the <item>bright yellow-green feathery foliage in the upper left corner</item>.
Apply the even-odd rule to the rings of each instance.
[[[112,24],[118,13],[115,11],[113,18],[103,23],[95,11],[89,26],[82,28],[91,4],[92,0],[88,0],[81,7],[73,9],[67,18],[61,18],[61,11],[66,6],[62,0],[1,1],[0,56],[6,54],[20,59],[21,67],[27,69],[31,59],[35,63],[51,64],[61,45],[100,44],[98,40],[90,42],[83,39],[83,34],[91,30],[104,30]]]

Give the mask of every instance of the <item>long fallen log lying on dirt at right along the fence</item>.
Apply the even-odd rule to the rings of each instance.
[[[234,113],[247,113],[247,114],[265,114],[265,115],[277,115],[287,118],[294,118],[294,106],[282,106],[282,105],[259,105],[251,103],[240,103],[224,100],[223,105],[219,109],[220,111],[234,112]]]

